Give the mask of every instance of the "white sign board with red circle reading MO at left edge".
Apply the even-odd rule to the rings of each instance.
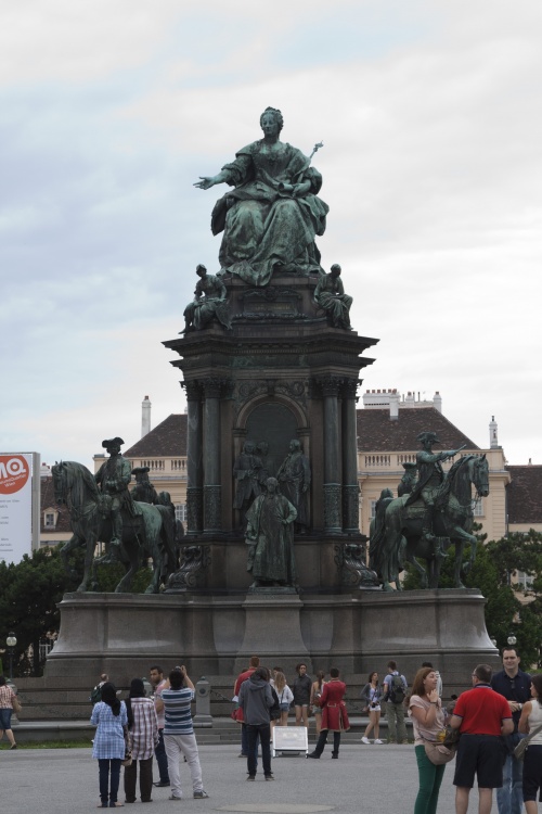
[[[31,554],[31,455],[0,454],[0,560],[5,562]]]

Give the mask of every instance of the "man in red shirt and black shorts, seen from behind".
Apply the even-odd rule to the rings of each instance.
[[[450,722],[461,732],[455,762],[455,812],[466,814],[468,794],[478,778],[479,814],[490,814],[493,789],[503,785],[501,736],[514,730],[512,713],[503,696],[490,687],[489,664],[475,667],[473,689],[462,692]]]

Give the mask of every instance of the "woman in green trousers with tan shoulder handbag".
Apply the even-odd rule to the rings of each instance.
[[[422,667],[416,673],[412,685],[412,695],[408,699],[409,715],[414,728],[414,749],[416,753],[420,788],[414,805],[414,814],[435,814],[444,775],[444,762],[436,765],[428,756],[428,751],[440,747],[439,735],[444,729],[446,711],[437,690],[438,676],[433,667]],[[426,745],[428,749],[426,749]]]

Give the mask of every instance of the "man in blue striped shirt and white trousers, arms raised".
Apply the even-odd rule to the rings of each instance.
[[[169,674],[169,688],[162,690],[165,726],[164,743],[168,755],[170,800],[181,800],[181,758],[186,758],[192,777],[192,789],[196,800],[208,797],[204,791],[202,766],[196,737],[192,725],[190,704],[194,700],[194,685],[186,675],[186,667],[176,667]]]

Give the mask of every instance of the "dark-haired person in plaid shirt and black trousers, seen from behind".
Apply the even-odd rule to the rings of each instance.
[[[132,678],[130,695],[126,702],[128,713],[128,732],[131,741],[132,762],[125,766],[125,796],[127,803],[136,802],[136,781],[138,779],[142,803],[151,802],[153,790],[153,754],[159,742],[158,717],[154,702],[145,697],[145,687],[141,678]]]

